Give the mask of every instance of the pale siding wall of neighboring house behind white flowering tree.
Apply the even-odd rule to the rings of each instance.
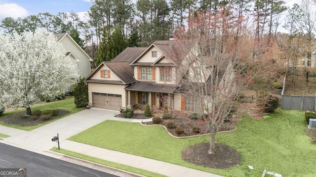
[[[89,58],[78,48],[76,44],[73,43],[70,38],[68,38],[68,35],[66,35],[60,42],[66,52],[72,52],[80,60],[77,62],[78,74],[81,77],[87,77],[91,72]]]

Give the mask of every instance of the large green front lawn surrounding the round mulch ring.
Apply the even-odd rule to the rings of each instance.
[[[237,166],[223,170],[200,167],[181,158],[184,148],[209,142],[209,136],[176,139],[160,126],[106,120],[69,139],[227,177],[259,177],[265,169],[283,177],[314,177],[316,145],[305,134],[304,113],[276,111],[264,116],[264,120],[244,117],[236,131],[216,135],[217,142],[242,155]]]

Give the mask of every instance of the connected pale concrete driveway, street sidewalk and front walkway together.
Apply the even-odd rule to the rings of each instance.
[[[62,149],[151,171],[168,177],[222,177],[179,165],[66,140],[104,120],[129,122],[152,121],[152,119],[116,118],[115,115],[117,114],[119,114],[118,111],[91,108],[61,118],[31,131],[0,125],[0,133],[10,136],[4,138],[6,142],[16,144],[19,147],[26,147],[28,150],[37,149],[37,151],[48,151],[53,147],[57,147],[56,143],[51,141],[51,138],[59,133],[60,147]],[[53,152],[48,154],[53,154]]]

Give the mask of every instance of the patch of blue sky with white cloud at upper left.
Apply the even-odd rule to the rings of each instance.
[[[71,10],[83,18],[90,6],[90,0],[0,0],[0,20],[5,17],[24,18],[44,12],[56,15]]]

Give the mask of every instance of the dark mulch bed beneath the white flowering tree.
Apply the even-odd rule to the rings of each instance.
[[[34,110],[32,110],[34,111]],[[67,114],[70,113],[70,111],[66,111],[66,110],[60,110],[59,111],[59,115],[58,116],[54,116],[51,117],[49,119],[46,120],[42,120],[40,118],[36,119],[36,120],[32,120],[31,118],[23,118],[26,115],[26,112],[23,113],[16,113],[16,114],[12,114],[12,115],[6,115],[6,116],[0,116],[0,122],[5,123],[5,124],[9,124],[9,125],[18,125],[18,126],[34,126],[34,125],[38,125],[41,123],[45,123],[47,121],[56,119],[56,118],[60,118],[62,116],[65,116]]]

